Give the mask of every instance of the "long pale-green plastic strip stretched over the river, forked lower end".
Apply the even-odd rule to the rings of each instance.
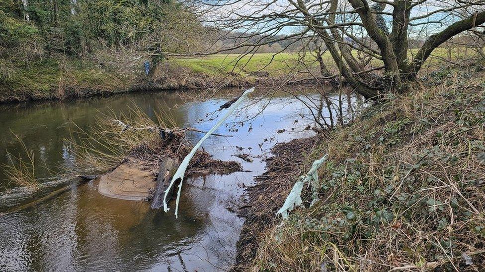
[[[170,188],[174,185],[175,181],[177,179],[180,179],[180,183],[178,184],[178,192],[177,192],[177,200],[175,202],[175,217],[178,218],[178,202],[180,200],[180,192],[182,190],[182,181],[183,181],[183,176],[185,174],[185,170],[187,169],[187,166],[189,165],[189,162],[190,160],[192,159],[192,157],[194,157],[194,154],[195,152],[197,151],[197,149],[200,148],[200,146],[202,145],[202,143],[218,128],[220,127],[224,121],[226,121],[226,119],[233,113],[233,111],[239,107],[239,105],[241,105],[241,103],[244,102],[244,100],[247,99],[247,95],[249,95],[250,93],[252,93],[252,91],[254,91],[254,88],[251,88],[251,89],[248,89],[246,91],[244,91],[244,93],[238,98],[238,100],[236,100],[236,102],[234,102],[231,107],[229,107],[228,111],[226,112],[226,114],[221,118],[221,120],[219,120],[219,122],[217,122],[217,124],[215,124],[211,130],[209,130],[203,137],[202,139],[200,139],[200,141],[194,146],[194,148],[192,148],[192,150],[190,151],[190,153],[185,156],[185,158],[183,159],[182,163],[180,163],[180,166],[178,166],[178,169],[177,171],[175,172],[175,174],[173,175],[171,181],[170,181],[170,184],[168,185],[167,189],[165,190],[164,192],[164,195],[163,195],[163,211],[168,212],[168,207],[167,207],[167,194],[168,192],[170,191]]]

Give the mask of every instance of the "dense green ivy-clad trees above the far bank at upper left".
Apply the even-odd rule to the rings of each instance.
[[[104,62],[190,52],[203,31],[175,0],[1,0],[0,76],[48,57]]]

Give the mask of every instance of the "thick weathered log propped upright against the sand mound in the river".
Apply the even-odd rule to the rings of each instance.
[[[163,206],[163,192],[168,188],[170,179],[178,166],[178,160],[175,160],[167,158],[160,163],[159,173],[157,175],[157,187],[151,204],[152,209],[159,209]],[[170,188],[167,197],[170,199],[172,196],[173,187]]]

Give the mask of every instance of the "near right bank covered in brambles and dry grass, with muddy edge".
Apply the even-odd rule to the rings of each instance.
[[[437,71],[327,135],[273,148],[247,189],[237,271],[472,270],[485,266],[485,73]],[[319,197],[275,218],[328,154]],[[281,224],[281,225],[280,225]]]

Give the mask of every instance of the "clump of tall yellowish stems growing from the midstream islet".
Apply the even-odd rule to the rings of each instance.
[[[96,118],[89,131],[76,124],[71,142],[74,146],[77,168],[81,171],[103,172],[122,162],[141,145],[152,146],[160,139],[158,128],[175,128],[175,119],[169,110],[155,114],[151,119],[142,109],[132,105],[126,112],[113,110]]]

